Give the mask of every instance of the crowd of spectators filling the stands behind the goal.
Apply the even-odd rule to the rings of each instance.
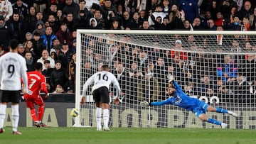
[[[20,42],[18,53],[26,58],[28,72],[34,70],[35,62],[41,62],[49,92],[73,93],[76,30],[79,28],[255,31],[255,6],[254,0],[1,0],[0,56],[9,51],[9,40],[16,38]],[[187,39],[186,43],[192,43],[191,45],[196,40],[193,35],[188,35]],[[107,42],[103,43],[97,45],[101,45],[101,48],[103,45],[109,46]],[[174,49],[180,50],[185,41],[181,42],[176,38],[174,43]],[[216,38],[216,45],[230,45],[233,51],[239,51],[240,48],[253,49],[255,46],[250,45],[246,36],[227,42],[223,35]],[[137,96],[129,97],[134,101],[144,99],[143,94],[147,93],[144,88],[149,86],[154,89],[151,92],[152,99],[165,99],[168,83],[165,78],[169,72],[174,73],[177,82],[183,82],[183,89],[189,94],[256,94],[255,55],[200,55],[187,52],[176,55],[175,50],[159,52],[157,48],[145,50],[135,46],[122,51],[122,44],[117,53],[111,50],[107,55],[112,60],[113,73],[126,91],[122,95]],[[88,42],[85,57],[82,57],[85,74],[94,73],[92,71],[97,70],[105,60],[103,56],[102,53],[95,52],[93,43]],[[209,57],[222,57],[224,61]],[[122,61],[124,58],[129,59],[129,62]],[[207,62],[208,60],[220,61]],[[207,67],[215,67],[217,72],[208,70],[215,74],[200,70],[205,68],[204,64],[213,63],[215,65]],[[196,74],[198,72],[200,74]],[[196,81],[191,80],[191,77]],[[153,83],[147,84],[145,79],[153,79]],[[233,92],[230,89],[240,90]]]

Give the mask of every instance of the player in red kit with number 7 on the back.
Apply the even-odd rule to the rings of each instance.
[[[42,123],[45,104],[43,102],[43,98],[40,95],[40,91],[42,90],[44,93],[46,93],[45,98],[48,97],[48,91],[46,89],[46,77],[41,74],[43,65],[40,62],[36,62],[35,69],[35,71],[27,73],[28,92],[24,95],[24,99],[26,101],[27,107],[31,110],[31,117],[35,122],[35,126],[46,127],[46,125]],[[36,113],[34,104],[38,106],[38,113]]]

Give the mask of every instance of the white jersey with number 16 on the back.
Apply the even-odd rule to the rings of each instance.
[[[98,89],[100,87],[107,87],[107,89],[110,89],[110,84],[112,83],[114,87],[117,89],[117,96],[120,95],[121,89],[119,86],[119,83],[117,81],[117,78],[114,77],[114,74],[107,71],[97,72],[93,74],[87,81],[85,82],[83,88],[82,88],[82,96],[85,96],[85,93],[87,91],[88,86],[90,84],[94,83],[92,87],[92,92],[95,89]]]

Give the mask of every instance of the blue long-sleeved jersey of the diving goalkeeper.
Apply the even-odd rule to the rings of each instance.
[[[164,101],[156,101],[156,102],[151,102],[151,106],[161,106],[164,104],[173,104],[174,106],[181,107],[183,109],[187,109],[188,111],[193,111],[196,112],[196,108],[201,107],[203,101],[199,101],[196,98],[192,98],[185,94],[181,87],[178,86],[176,82],[173,82],[174,87],[176,89],[176,94],[175,96],[171,96],[168,99]],[[205,103],[204,103],[205,104]]]

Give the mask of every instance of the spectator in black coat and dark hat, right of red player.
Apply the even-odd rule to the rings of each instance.
[[[60,60],[56,60],[55,68],[53,69],[53,72],[50,73],[50,87],[52,89],[56,89],[58,84],[60,84],[63,89],[67,88],[68,77],[61,66]]]

